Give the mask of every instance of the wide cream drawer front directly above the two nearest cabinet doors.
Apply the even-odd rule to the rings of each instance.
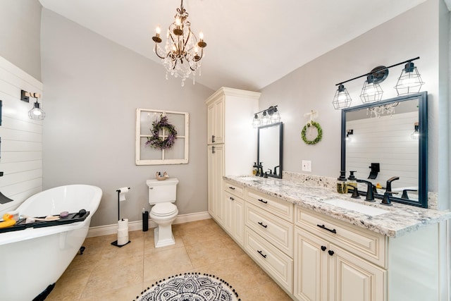
[[[386,268],[384,235],[300,207],[296,208],[296,225]]]

